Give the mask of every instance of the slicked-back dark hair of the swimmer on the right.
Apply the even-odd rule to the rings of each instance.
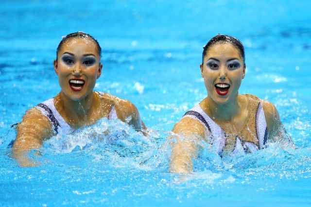
[[[239,50],[243,61],[244,61],[244,65],[245,65],[245,51],[244,51],[244,46],[242,44],[242,42],[240,40],[238,40],[237,38],[233,37],[233,36],[229,36],[229,35],[221,35],[218,34],[216,36],[214,36],[213,38],[211,38],[207,44],[203,47],[203,52],[202,52],[202,65],[204,62],[204,57],[207,53],[207,50],[217,44],[217,43],[230,43],[232,44],[236,49]]]

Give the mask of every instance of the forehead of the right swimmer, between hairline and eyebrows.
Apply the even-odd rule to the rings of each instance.
[[[240,51],[230,43],[216,43],[215,45],[210,46],[206,52],[205,57],[214,57],[217,59],[237,58],[242,60]]]

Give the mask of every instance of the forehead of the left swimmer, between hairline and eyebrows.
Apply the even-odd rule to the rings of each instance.
[[[91,53],[91,54],[98,54],[98,49],[96,44],[87,38],[70,38],[65,41],[59,50],[59,53],[62,54],[64,52],[70,53]]]

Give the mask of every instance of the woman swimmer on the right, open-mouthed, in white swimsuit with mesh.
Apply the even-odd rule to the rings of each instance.
[[[204,46],[201,75],[207,97],[187,111],[173,127],[171,172],[193,170],[198,140],[212,143],[219,155],[252,153],[266,147],[268,139],[287,139],[276,107],[251,94],[239,94],[245,76],[245,53],[240,40],[216,35]]]

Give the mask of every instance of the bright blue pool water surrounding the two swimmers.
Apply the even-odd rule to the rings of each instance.
[[[311,205],[310,7],[308,0],[1,1],[0,206]],[[103,120],[96,130],[125,131],[123,138],[98,141],[86,128],[76,139],[52,138],[34,156],[39,167],[20,168],[6,149],[10,125],[59,92],[52,61],[61,36],[75,31],[103,48],[95,89],[132,101],[151,136]],[[272,145],[233,160],[206,152],[194,174],[174,175],[166,137],[207,95],[202,47],[218,33],[245,45],[240,93],[274,103],[298,149]]]

